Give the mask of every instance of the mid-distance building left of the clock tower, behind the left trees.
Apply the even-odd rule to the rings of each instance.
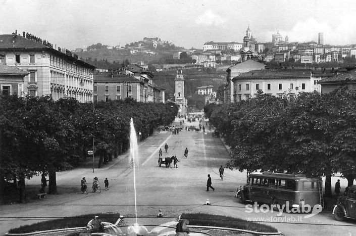
[[[96,72],[94,102],[132,98],[137,102],[164,103],[165,89],[155,85],[149,73],[139,74],[127,69]]]

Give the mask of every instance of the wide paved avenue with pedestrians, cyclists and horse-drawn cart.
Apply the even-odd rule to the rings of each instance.
[[[179,124],[182,119],[176,119]],[[134,179],[136,180],[137,215],[157,216],[162,209],[164,217],[177,217],[182,212],[208,212],[229,215],[246,219],[247,217],[277,217],[277,213],[247,213],[244,204],[234,198],[234,190],[246,182],[246,172],[225,169],[224,180],[218,174],[220,165],[225,165],[229,154],[220,138],[213,137],[206,121],[201,123],[206,133],[185,131],[172,135],[171,132],[155,133],[139,143],[138,164],[130,165],[128,154],[114,159],[101,169],[78,168],[57,173],[59,194],[47,196],[43,200],[33,200],[28,204],[0,206],[2,220],[0,234],[10,228],[31,224],[52,217],[75,216],[100,212],[120,212],[124,216],[135,215]],[[199,122],[183,123],[198,126]],[[208,126],[208,127],[207,127]],[[165,143],[169,149],[164,151]],[[158,166],[158,151],[162,148],[162,157],[176,155],[178,168]],[[188,157],[183,153],[188,148]],[[173,164],[172,164],[173,166]],[[207,175],[212,177],[215,191],[206,192]],[[100,181],[101,194],[80,194],[80,179],[85,176],[88,186],[91,179],[97,176]],[[108,177],[110,190],[105,191],[104,179]],[[26,183],[40,186],[40,176]],[[209,199],[212,206],[205,206]],[[355,235],[355,222],[338,222],[331,212],[322,212],[308,219],[303,214],[283,213],[281,217],[300,216],[301,222],[276,223],[266,222],[276,227],[285,235]],[[171,219],[167,219],[171,221]],[[263,221],[263,219],[260,219]],[[138,219],[139,223],[139,219]],[[306,224],[307,223],[307,224]],[[84,225],[83,225],[84,226]]]

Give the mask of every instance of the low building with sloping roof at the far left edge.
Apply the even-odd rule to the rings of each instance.
[[[2,95],[23,95],[24,77],[29,72],[0,63],[0,89]]]

